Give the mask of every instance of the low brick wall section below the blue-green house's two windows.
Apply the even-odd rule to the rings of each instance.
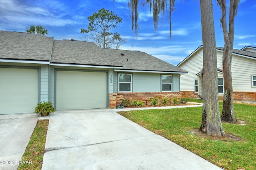
[[[122,99],[129,99],[130,102],[136,98],[136,100],[141,100],[146,104],[150,98],[159,96],[159,101],[165,98],[182,98],[182,92],[134,92],[134,93],[110,93],[109,94],[109,107],[116,107],[116,104],[121,104]],[[148,105],[150,103],[148,102]]]

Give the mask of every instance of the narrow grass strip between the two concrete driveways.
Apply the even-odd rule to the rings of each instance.
[[[18,170],[40,170],[42,168],[44,146],[49,120],[38,120],[30,141],[22,156],[22,161],[32,161],[32,164],[20,164]]]

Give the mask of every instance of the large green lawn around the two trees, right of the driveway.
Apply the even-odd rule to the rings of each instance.
[[[222,123],[225,133],[240,138],[214,138],[198,132],[202,107],[119,112],[139,125],[166,137],[202,158],[229,170],[256,169],[256,105],[234,104],[243,124]],[[222,103],[220,102],[220,113]],[[193,133],[192,133],[193,131]]]

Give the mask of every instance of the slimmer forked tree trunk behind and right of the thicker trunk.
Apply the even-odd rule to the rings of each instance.
[[[234,43],[234,21],[240,0],[230,0],[230,7],[227,8],[226,0],[217,0],[221,8],[222,17],[220,22],[224,35],[224,48],[223,48],[223,80],[224,80],[224,96],[223,96],[223,110],[221,119],[230,123],[237,122],[234,107],[233,107],[233,87],[232,87],[232,53]],[[229,9],[229,23],[227,28],[227,9]]]

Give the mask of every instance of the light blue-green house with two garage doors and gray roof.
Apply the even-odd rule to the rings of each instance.
[[[0,114],[31,113],[42,101],[65,110],[181,98],[187,71],[144,52],[9,31],[0,31],[0,41]]]

